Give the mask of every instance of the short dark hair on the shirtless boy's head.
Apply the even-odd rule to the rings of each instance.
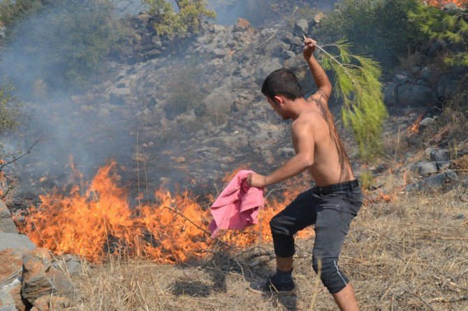
[[[290,100],[304,97],[298,77],[291,70],[281,68],[268,75],[262,85],[262,93],[269,98],[282,95]]]

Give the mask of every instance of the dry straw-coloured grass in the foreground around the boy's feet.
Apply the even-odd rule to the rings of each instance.
[[[468,310],[468,191],[401,195],[363,206],[342,250],[362,310]],[[203,261],[168,266],[110,259],[74,279],[79,310],[336,310],[316,287],[312,243],[297,241],[297,296],[262,296],[250,280],[272,273],[273,260],[249,268],[254,254],[213,250]],[[317,295],[312,308],[313,296]],[[453,302],[443,302],[450,301]]]

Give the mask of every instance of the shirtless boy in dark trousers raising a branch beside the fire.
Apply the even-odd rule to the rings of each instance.
[[[321,281],[330,291],[340,310],[359,310],[354,289],[339,269],[338,257],[349,224],[362,205],[363,195],[353,176],[351,164],[328,109],[332,86],[325,71],[314,58],[314,44],[305,39],[305,61],[319,86],[305,99],[295,75],[279,69],[263,82],[262,93],[283,119],[292,119],[291,133],[295,155],[268,176],[249,175],[254,187],[279,183],[304,172],[312,175],[316,185],[301,193],[270,221],[277,259],[277,273],[263,282],[252,282],[259,291],[292,291],[294,237],[299,230],[315,225],[312,265],[320,270]]]

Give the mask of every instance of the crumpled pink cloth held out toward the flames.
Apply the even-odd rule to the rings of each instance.
[[[242,170],[226,185],[211,206],[213,220],[208,225],[212,238],[219,229],[244,229],[258,223],[257,216],[265,203],[263,188],[250,187],[244,181],[253,171]]]

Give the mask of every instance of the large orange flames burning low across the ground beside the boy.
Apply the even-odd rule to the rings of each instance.
[[[142,256],[164,263],[176,263],[203,257],[214,241],[207,225],[209,208],[203,208],[188,192],[171,195],[156,190],[156,204],[131,208],[128,191],[117,185],[117,164],[98,169],[85,194],[73,186],[68,196],[57,191],[41,195],[42,204],[31,207],[24,220],[15,218],[20,231],[34,243],[55,254],[71,253],[89,261],[101,261],[108,253]],[[268,222],[289,197],[299,190],[284,193],[284,202],[267,201],[260,224],[241,231],[228,231],[219,240],[246,247],[259,241],[271,241]],[[300,236],[309,236],[312,229]]]

